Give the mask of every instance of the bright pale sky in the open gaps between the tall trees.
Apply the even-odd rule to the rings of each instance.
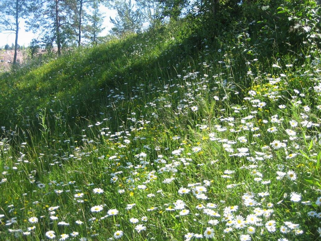
[[[100,36],[105,36],[108,31],[112,28],[112,24],[109,22],[109,17],[115,18],[116,16],[116,10],[110,10],[105,6],[100,6],[101,12],[105,13],[105,19],[104,19],[104,27],[105,30],[101,32]],[[18,34],[18,44],[21,46],[28,46],[30,41],[34,38],[38,37],[38,34],[32,33],[32,31],[25,31],[25,24],[24,19],[20,20],[19,23],[19,34]],[[15,34],[14,33],[0,33],[0,46],[4,46],[6,44],[9,44],[11,46],[12,43],[14,43]]]

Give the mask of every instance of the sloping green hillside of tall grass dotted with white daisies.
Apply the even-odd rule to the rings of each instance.
[[[0,237],[317,240],[320,38],[266,26],[185,18],[3,73]]]

